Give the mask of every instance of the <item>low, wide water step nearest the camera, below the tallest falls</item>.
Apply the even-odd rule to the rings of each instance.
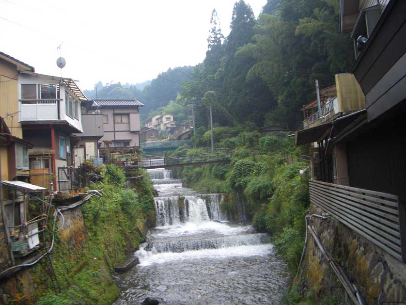
[[[266,233],[256,233],[204,239],[159,241],[149,244],[148,249],[151,249],[154,253],[180,253],[184,251],[201,249],[219,249],[234,246],[258,245],[265,243],[266,241],[268,241],[268,239],[269,237]]]

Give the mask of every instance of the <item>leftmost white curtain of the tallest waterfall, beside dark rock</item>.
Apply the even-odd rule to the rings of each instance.
[[[178,197],[157,197],[155,199],[156,225],[180,224]]]

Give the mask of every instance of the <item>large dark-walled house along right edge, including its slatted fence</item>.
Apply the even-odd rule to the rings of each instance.
[[[332,110],[295,133],[297,145],[316,144],[312,204],[400,262],[406,262],[405,12],[403,0],[341,0],[342,31],[356,39],[351,80],[336,77]]]

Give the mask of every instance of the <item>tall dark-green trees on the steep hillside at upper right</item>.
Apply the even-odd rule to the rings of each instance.
[[[219,125],[251,121],[295,129],[301,106],[315,97],[314,80],[321,88],[332,85],[334,74],[352,64],[351,40],[338,21],[338,0],[268,0],[258,19],[240,0],[223,39],[214,10],[206,58],[195,67],[195,80],[183,84],[183,96],[200,99],[214,91]],[[197,107],[197,126],[207,126],[207,109]]]

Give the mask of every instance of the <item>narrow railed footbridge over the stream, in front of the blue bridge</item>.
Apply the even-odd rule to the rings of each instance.
[[[233,157],[232,152],[214,152],[209,154],[200,154],[192,156],[174,156],[164,158],[141,159],[137,167],[145,169],[153,168],[171,168],[179,166],[196,166],[212,163],[228,163]],[[131,168],[135,166],[127,166]]]

